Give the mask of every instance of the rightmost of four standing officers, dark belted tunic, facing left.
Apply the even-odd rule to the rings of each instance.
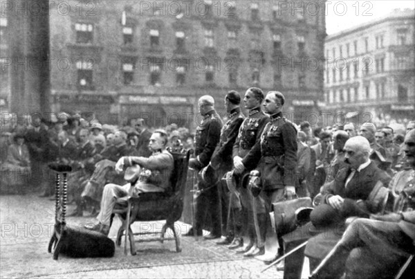
[[[248,169],[256,166],[261,175],[262,190],[259,198],[264,202],[266,213],[258,214],[258,237],[264,242],[272,204],[282,201],[284,195],[295,195],[297,185],[297,131],[293,123],[282,115],[284,102],[282,93],[268,92],[263,108],[270,116],[270,122],[261,134],[261,141],[252,147],[251,156],[242,160]],[[279,253],[282,253],[281,249]]]

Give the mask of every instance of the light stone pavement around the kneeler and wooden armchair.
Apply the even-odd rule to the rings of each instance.
[[[73,206],[71,206],[73,207]],[[71,209],[71,208],[70,208]],[[71,211],[71,210],[69,210]],[[0,278],[282,278],[275,268],[257,259],[243,258],[216,240],[181,237],[181,253],[174,241],[137,243],[137,255],[124,255],[124,242],[113,258],[73,259],[59,255],[54,261],[47,252],[53,231],[54,201],[37,195],[0,196]],[[70,217],[71,226],[95,222],[91,217]],[[120,221],[115,220],[109,237],[113,240]],[[159,231],[160,222],[133,224],[133,231]],[[185,233],[189,226],[178,223]]]

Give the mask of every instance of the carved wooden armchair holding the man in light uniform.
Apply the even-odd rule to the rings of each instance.
[[[176,241],[176,252],[181,252],[180,240],[174,222],[180,219],[183,212],[183,197],[185,195],[185,186],[187,178],[187,168],[189,165],[190,154],[193,150],[181,153],[171,152],[174,158],[174,170],[170,177],[172,192],[145,192],[138,197],[128,197],[127,199],[118,199],[117,206],[113,214],[118,214],[122,220],[122,225],[118,229],[116,244],[121,245],[121,239],[124,235],[124,254],[127,255],[127,238],[130,242],[131,255],[136,255],[135,242],[153,242],[164,240]],[[160,237],[140,238],[136,240],[134,235],[148,235],[154,232],[133,233],[131,224],[133,222],[158,221],[166,220],[161,229]],[[170,228],[174,237],[165,238],[167,228]]]

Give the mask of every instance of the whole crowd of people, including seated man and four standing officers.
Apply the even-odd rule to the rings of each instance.
[[[174,124],[151,131],[143,119],[116,127],[83,125],[77,115],[49,123],[34,117],[29,127],[1,134],[2,172],[8,171],[9,190],[39,186],[41,196],[50,197],[54,177],[48,163],[70,164],[68,190],[77,205],[71,215],[82,216],[88,207],[93,215],[99,211],[98,222],[86,228],[107,235],[116,199],[139,192],[169,192],[165,177],[171,175],[174,162],[167,150],[192,149],[189,167],[197,174],[197,184],[193,224],[186,235],[202,236],[207,230],[206,239],[221,238],[217,244],[228,245],[245,257],[261,256],[266,253],[266,240],[275,233],[269,214],[273,203],[295,196],[318,198],[310,215],[315,234],[305,253],[313,268],[323,259],[331,262],[340,256],[342,264],[329,264],[329,268],[320,264],[314,276],[390,276],[385,270],[395,272],[415,251],[415,121],[407,123],[406,131],[369,122],[312,127],[304,121],[296,125],[284,117],[284,102],[278,91],[264,94],[252,87],[243,97],[229,91],[224,96],[228,114],[221,119],[214,98],[202,96],[199,112],[203,120],[194,134]],[[13,143],[8,142],[10,138]],[[138,168],[122,175],[131,166]],[[18,173],[19,179],[10,172]],[[389,215],[380,215],[373,198],[379,187],[389,187],[391,192]],[[6,188],[3,181],[1,188]],[[352,223],[359,225],[354,235],[345,223],[351,216],[365,218]],[[405,226],[398,226],[402,222]],[[372,232],[376,237],[362,240],[365,235],[359,230],[369,225],[378,230]],[[328,243],[327,228],[346,233],[331,235],[333,242]],[[392,237],[397,231],[398,236]],[[361,238],[356,240],[359,233]],[[282,235],[276,236],[277,253],[261,260],[272,262],[284,255]],[[393,247],[394,253],[385,257],[383,246],[372,249],[370,245]],[[333,247],[338,251],[335,257]],[[351,253],[356,248],[365,253]],[[361,271],[362,262],[373,257],[379,260],[376,269]]]

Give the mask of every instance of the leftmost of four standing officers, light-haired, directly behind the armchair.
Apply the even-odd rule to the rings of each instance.
[[[212,96],[202,96],[199,98],[199,112],[203,120],[196,128],[194,155],[189,161],[189,168],[201,170],[205,168],[212,158],[212,154],[221,137],[222,120],[214,110],[214,98]],[[217,181],[213,185],[208,185],[199,179],[198,188],[201,194],[196,198],[196,212],[194,213],[193,228],[187,235],[193,235],[196,230],[197,235],[202,235],[202,229],[207,221],[208,213],[212,217],[210,234],[206,238],[213,239],[221,237],[221,208],[219,200],[219,190]]]

